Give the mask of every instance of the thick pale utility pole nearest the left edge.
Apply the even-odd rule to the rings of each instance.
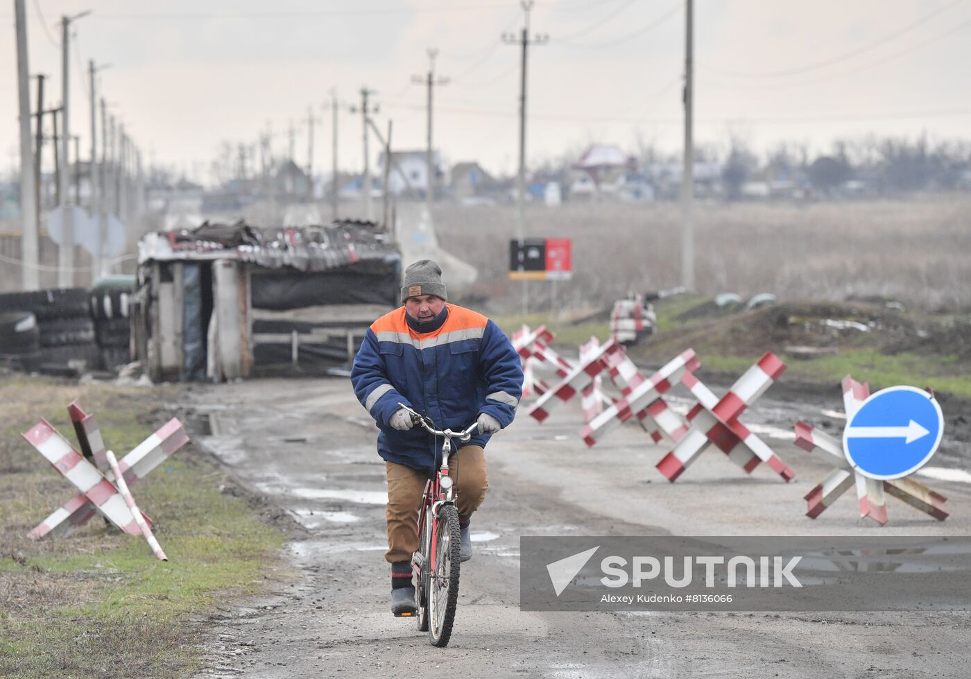
[[[27,63],[27,14],[23,0],[14,0],[17,22],[17,94],[20,113],[20,285],[41,287],[37,250],[37,191],[34,187],[34,153],[30,140],[30,69]],[[43,85],[42,85],[43,86]],[[40,111],[40,110],[39,110]],[[40,120],[40,119],[38,119]],[[38,126],[40,126],[38,124]]]

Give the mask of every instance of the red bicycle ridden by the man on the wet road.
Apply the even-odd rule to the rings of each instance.
[[[419,508],[419,549],[412,555],[415,605],[419,631],[427,631],[433,646],[447,646],[458,604],[458,574],[461,564],[461,537],[458,510],[455,508],[453,479],[449,475],[452,438],[467,443],[478,424],[463,431],[439,429],[435,424],[403,403],[412,421],[434,436],[442,436],[442,466],[425,484]],[[456,468],[457,474],[457,468]],[[402,614],[411,615],[410,613]]]

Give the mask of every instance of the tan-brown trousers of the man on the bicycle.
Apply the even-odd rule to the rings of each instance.
[[[456,458],[457,456],[457,463]],[[427,478],[397,462],[385,461],[387,471],[388,563],[412,560],[419,548],[419,502]],[[456,476],[457,473],[457,476]],[[456,479],[456,507],[466,516],[479,509],[488,490],[485,451],[482,446],[463,446],[449,456],[449,476]]]

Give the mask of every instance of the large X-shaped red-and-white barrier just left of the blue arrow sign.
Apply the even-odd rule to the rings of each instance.
[[[698,399],[687,414],[691,429],[657,463],[658,471],[673,483],[711,443],[748,474],[759,462],[765,462],[784,481],[792,480],[795,472],[764,441],[738,421],[745,409],[771,387],[785,369],[786,364],[768,352],[720,399],[692,373],[686,372],[681,380]]]

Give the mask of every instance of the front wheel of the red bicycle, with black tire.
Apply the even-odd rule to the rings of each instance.
[[[458,527],[458,512],[454,505],[445,504],[438,512],[435,577],[428,583],[428,638],[432,646],[444,648],[452,638],[455,608],[458,605],[458,575],[461,565],[462,539]],[[445,585],[439,582],[447,578]]]

